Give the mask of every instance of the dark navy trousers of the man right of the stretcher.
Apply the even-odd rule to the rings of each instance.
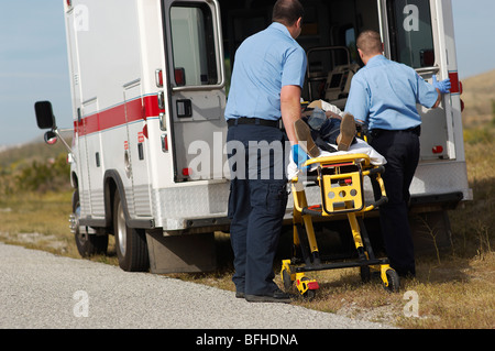
[[[397,273],[416,274],[408,208],[409,187],[419,162],[419,131],[380,131],[372,138],[371,146],[387,160],[383,180],[388,204],[380,207],[385,250]]]

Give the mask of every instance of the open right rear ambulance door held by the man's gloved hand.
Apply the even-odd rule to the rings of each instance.
[[[433,0],[381,0],[382,37],[385,55],[406,64],[430,84],[449,78],[449,65],[455,64],[455,53],[446,47],[442,2]],[[450,54],[450,55],[449,55]],[[452,81],[452,92],[459,84]],[[457,150],[449,95],[438,109],[420,107],[421,161],[455,160]]]

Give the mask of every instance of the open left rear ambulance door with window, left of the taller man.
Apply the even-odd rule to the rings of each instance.
[[[227,123],[220,9],[216,0],[164,0],[175,182],[222,179]]]

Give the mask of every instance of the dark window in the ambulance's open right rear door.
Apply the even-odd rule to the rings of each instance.
[[[435,65],[429,0],[388,0],[392,59],[413,68]]]

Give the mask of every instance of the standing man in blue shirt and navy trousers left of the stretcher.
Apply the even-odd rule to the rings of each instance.
[[[290,301],[273,282],[287,206],[286,136],[278,120],[282,117],[295,150],[294,121],[300,119],[306,72],[306,54],[295,41],[302,14],[299,1],[278,0],[272,25],[248,37],[235,53],[226,108],[228,149],[233,147],[229,151],[229,218],[235,296],[248,301]]]

